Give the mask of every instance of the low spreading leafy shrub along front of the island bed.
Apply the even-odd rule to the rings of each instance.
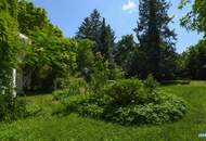
[[[173,95],[167,97],[167,100],[158,104],[131,104],[123,107],[111,107],[104,113],[104,117],[121,125],[158,125],[183,117],[185,114],[183,101]]]

